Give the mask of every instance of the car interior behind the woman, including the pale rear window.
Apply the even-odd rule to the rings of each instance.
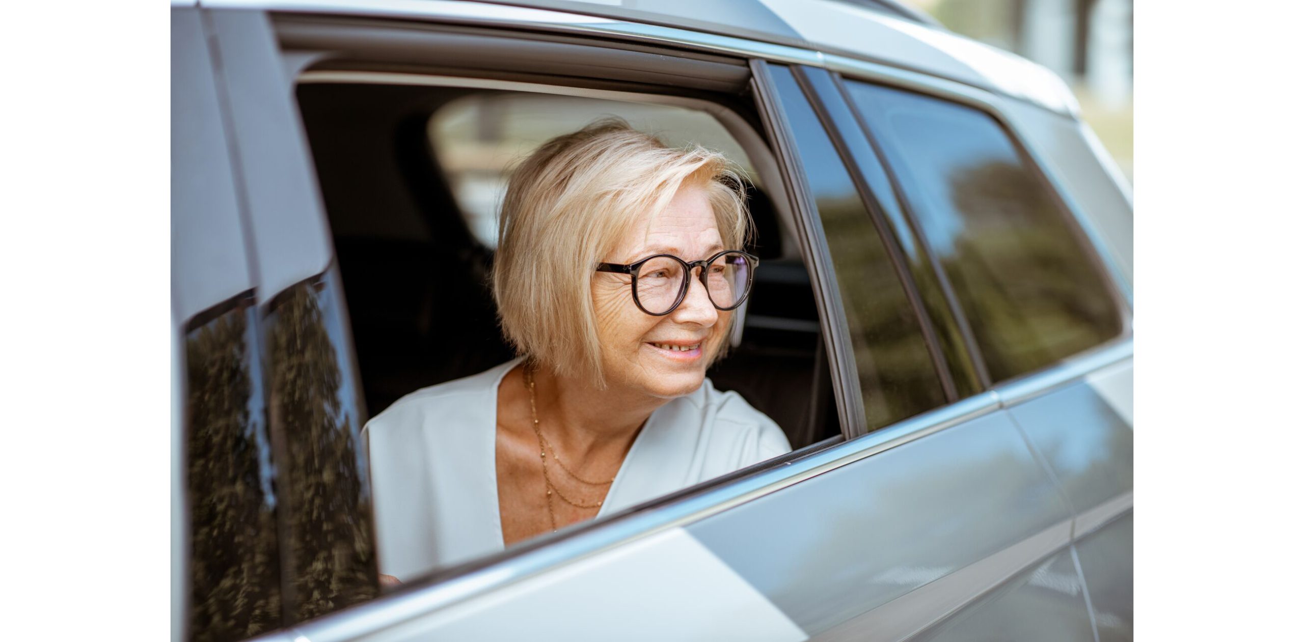
[[[514,356],[488,286],[506,178],[545,139],[619,116],[725,152],[750,182],[760,267],[713,384],[794,449],[841,434],[810,276],[786,199],[767,189],[780,174],[754,117],[698,98],[396,76],[308,72],[296,90],[370,415]]]

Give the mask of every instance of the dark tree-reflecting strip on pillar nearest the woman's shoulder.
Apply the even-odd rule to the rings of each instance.
[[[370,501],[356,441],[357,404],[330,326],[325,279],[300,283],[269,314],[271,422],[283,444],[293,620],[378,594]]]

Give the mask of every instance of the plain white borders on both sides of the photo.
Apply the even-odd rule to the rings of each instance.
[[[168,7],[5,7],[7,637],[168,637]],[[1304,9],[1136,1],[1136,634],[1297,633]]]

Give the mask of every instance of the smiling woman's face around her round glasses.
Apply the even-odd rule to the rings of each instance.
[[[634,263],[653,254],[673,254],[691,262],[725,249],[705,190],[686,186],[664,211],[648,212],[631,225],[629,236],[604,260]],[[733,313],[711,305],[698,280],[699,270],[692,271],[683,302],[664,316],[652,316],[634,305],[630,275],[593,275],[597,335],[610,385],[666,398],[702,385]]]

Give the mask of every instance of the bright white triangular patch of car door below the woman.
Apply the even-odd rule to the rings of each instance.
[[[683,529],[575,560],[359,639],[507,642],[523,635],[593,642],[807,639],[782,611]]]

